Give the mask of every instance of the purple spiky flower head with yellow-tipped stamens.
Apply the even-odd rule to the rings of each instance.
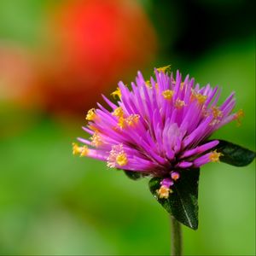
[[[74,154],[106,161],[110,168],[162,177],[161,198],[169,196],[182,170],[193,172],[188,169],[218,162],[221,154],[210,151],[218,140],[207,138],[242,115],[241,110],[231,113],[234,92],[218,105],[218,86],[200,87],[189,75],[183,80],[178,71],[174,78],[168,68],[155,69],[155,79],[148,81],[138,72],[131,89],[119,82],[112,93],[119,101],[114,104],[103,96],[110,110],[99,103],[90,109],[83,127],[90,140],[78,138],[82,147],[73,144]]]

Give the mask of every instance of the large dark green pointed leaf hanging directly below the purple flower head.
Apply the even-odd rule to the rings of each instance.
[[[170,212],[180,223],[193,230],[198,228],[198,182],[200,169],[190,169],[180,172],[180,178],[172,185],[172,194],[167,199],[159,198],[162,178],[153,177],[149,181],[149,189],[162,207]]]

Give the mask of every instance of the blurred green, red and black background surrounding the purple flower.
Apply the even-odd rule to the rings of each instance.
[[[119,79],[172,64],[236,91],[242,125],[214,137],[255,150],[255,42],[247,0],[0,1],[0,253],[165,255],[169,219],[148,191],[73,157],[89,108]],[[255,255],[255,163],[201,170],[186,255]]]

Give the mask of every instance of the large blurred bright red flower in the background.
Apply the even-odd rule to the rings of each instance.
[[[136,1],[67,1],[49,18],[51,49],[40,89],[50,111],[81,112],[152,61],[156,36]]]

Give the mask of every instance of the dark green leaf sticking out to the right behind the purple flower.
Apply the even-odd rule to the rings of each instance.
[[[252,150],[223,140],[218,141],[219,143],[214,149],[223,154],[219,158],[221,162],[232,166],[247,166],[255,158],[256,154]]]

